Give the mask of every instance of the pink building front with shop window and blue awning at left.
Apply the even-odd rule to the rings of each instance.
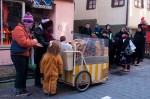
[[[0,0],[0,54],[5,54],[0,57],[0,65],[11,63],[11,33],[26,12],[33,15],[35,28],[41,18],[48,16],[53,21],[51,30],[55,39],[66,36],[67,41],[73,40],[73,0]],[[5,25],[8,25],[7,29],[4,29]]]

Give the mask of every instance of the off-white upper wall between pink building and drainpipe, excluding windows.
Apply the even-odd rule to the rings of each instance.
[[[75,0],[75,20],[97,19],[100,25],[126,23],[126,3],[123,7],[111,7],[112,0],[97,0],[95,10],[86,10],[87,0]],[[126,1],[126,0],[125,0]]]

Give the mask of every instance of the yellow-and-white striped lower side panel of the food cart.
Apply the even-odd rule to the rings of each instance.
[[[76,66],[75,70],[73,71],[63,71],[63,76],[62,76],[62,81],[65,83],[68,83],[72,86],[74,86],[74,81],[76,75],[83,71],[86,70],[90,73],[91,75],[91,80],[92,84],[94,83],[100,83],[103,81],[106,81],[108,79],[108,68],[109,68],[109,63],[102,63],[102,64],[89,64],[86,66]],[[75,74],[73,76],[73,74]],[[86,79],[86,76],[82,76],[81,79]]]

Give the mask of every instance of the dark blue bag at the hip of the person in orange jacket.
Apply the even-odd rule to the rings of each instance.
[[[26,48],[21,47],[15,40],[13,40],[10,51],[12,54],[23,54],[26,52]]]

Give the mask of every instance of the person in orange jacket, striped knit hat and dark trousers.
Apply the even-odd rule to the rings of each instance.
[[[21,47],[26,48],[26,51],[22,54],[14,54],[11,52],[11,59],[16,69],[15,88],[13,89],[15,95],[30,94],[30,92],[26,90],[30,48],[33,46],[42,47],[36,39],[31,39],[29,36],[33,22],[33,16],[29,12],[26,13],[22,22],[15,27],[12,33],[12,40],[15,40]]]

